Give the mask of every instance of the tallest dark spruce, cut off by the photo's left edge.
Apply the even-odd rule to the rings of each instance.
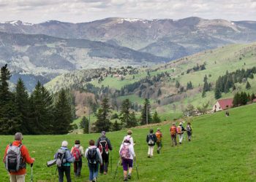
[[[13,135],[20,130],[21,116],[15,106],[15,95],[9,90],[11,74],[7,64],[1,67],[0,74],[0,134]]]

